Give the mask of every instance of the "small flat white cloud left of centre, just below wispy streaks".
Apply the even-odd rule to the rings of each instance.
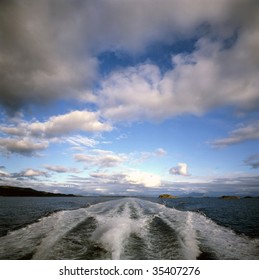
[[[75,154],[74,159],[89,166],[109,168],[119,166],[127,157],[124,154],[115,154],[112,151],[92,150],[90,154]]]

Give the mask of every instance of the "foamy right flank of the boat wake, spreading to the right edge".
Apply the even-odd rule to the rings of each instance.
[[[258,239],[239,236],[199,213],[165,207],[159,216],[178,233],[184,258],[197,258],[201,253],[200,247],[206,247],[217,259],[258,258]]]

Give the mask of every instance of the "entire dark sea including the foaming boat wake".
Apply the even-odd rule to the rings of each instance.
[[[0,197],[1,260],[259,259],[259,199]]]

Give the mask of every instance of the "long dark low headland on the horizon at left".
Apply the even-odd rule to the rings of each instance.
[[[36,191],[31,188],[20,188],[11,186],[0,186],[0,196],[71,196],[76,197],[73,194],[62,194],[62,193],[50,193],[43,191]]]

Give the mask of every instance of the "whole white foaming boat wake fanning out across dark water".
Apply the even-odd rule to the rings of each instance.
[[[200,213],[125,198],[12,231],[0,238],[0,259],[258,259],[258,247]]]

